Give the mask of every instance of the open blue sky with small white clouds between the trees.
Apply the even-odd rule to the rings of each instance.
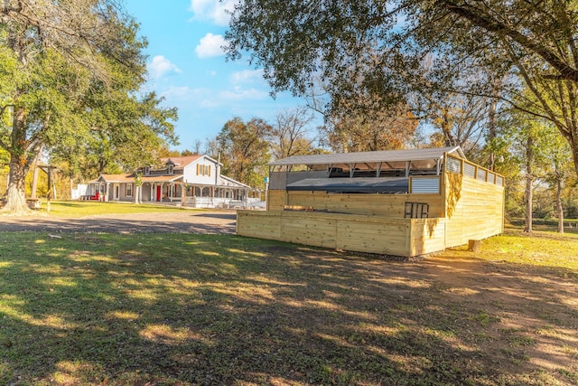
[[[303,105],[290,94],[270,96],[263,72],[247,58],[226,61],[223,35],[226,9],[235,0],[124,0],[126,12],[141,24],[148,40],[149,81],[144,90],[162,95],[165,106],[179,110],[175,131],[178,150],[193,149],[197,140],[217,136],[225,122],[264,118],[273,123],[284,109]]]

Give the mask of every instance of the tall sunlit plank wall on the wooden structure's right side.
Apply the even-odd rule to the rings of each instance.
[[[446,180],[446,248],[504,231],[502,186],[452,173]]]

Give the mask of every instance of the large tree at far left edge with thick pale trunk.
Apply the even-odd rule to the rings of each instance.
[[[42,145],[66,142],[89,124],[85,96],[126,81],[111,63],[122,63],[142,83],[144,42],[136,29],[115,0],[0,5],[0,146],[10,155],[3,210],[27,209],[25,175]]]

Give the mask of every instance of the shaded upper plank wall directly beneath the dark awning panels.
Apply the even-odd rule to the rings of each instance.
[[[404,218],[406,202],[430,204],[429,217],[443,217],[442,194],[340,194],[323,192],[269,191],[267,210],[283,210],[285,205],[317,211]]]

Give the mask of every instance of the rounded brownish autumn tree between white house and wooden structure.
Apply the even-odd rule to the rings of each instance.
[[[241,118],[229,120],[217,136],[222,172],[250,186],[263,185],[269,162],[271,125],[260,118],[247,123]]]

